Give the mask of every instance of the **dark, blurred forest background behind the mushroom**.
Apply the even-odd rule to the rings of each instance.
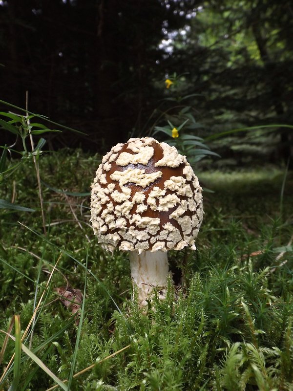
[[[0,0],[0,99],[64,130],[51,149],[104,153],[165,126],[178,96],[206,140],[228,130],[293,124],[293,6],[289,0]],[[181,104],[181,102],[180,102]],[[7,111],[1,105],[2,111]],[[291,157],[292,129],[215,138],[227,164]],[[1,145],[13,134],[0,130]]]

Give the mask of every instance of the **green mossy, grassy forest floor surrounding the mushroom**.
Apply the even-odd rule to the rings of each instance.
[[[170,285],[143,313],[127,254],[101,249],[89,197],[73,195],[98,164],[80,151],[40,159],[46,237],[33,162],[1,184],[0,198],[35,212],[0,209],[0,329],[17,340],[0,333],[0,376],[17,353],[0,390],[293,390],[292,176],[199,173],[215,193],[198,250],[170,252],[178,298]],[[64,287],[83,293],[77,316]]]

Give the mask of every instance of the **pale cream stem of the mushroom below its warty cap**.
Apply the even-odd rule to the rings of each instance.
[[[154,287],[159,287],[164,292],[168,277],[172,279],[167,252],[142,251],[139,254],[138,251],[129,251],[129,260],[133,288],[137,287],[139,303],[144,306]]]

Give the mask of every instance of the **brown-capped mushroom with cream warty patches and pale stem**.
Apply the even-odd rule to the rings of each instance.
[[[167,251],[196,249],[203,214],[202,188],[175,147],[130,138],[103,157],[92,184],[91,222],[104,249],[129,251],[140,305],[153,287],[164,292],[172,281]]]

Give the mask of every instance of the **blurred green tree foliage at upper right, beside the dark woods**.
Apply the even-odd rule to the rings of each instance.
[[[206,97],[194,102],[205,125],[204,138],[239,128],[292,125],[286,91],[292,89],[288,69],[293,51],[284,34],[292,32],[290,9],[288,1],[282,6],[274,1],[204,1],[185,34],[176,36],[168,66],[188,74],[188,93]],[[253,164],[257,157],[285,164],[291,159],[292,167],[292,145],[292,130],[275,125],[273,132],[233,134],[211,148],[237,165],[248,159]]]

